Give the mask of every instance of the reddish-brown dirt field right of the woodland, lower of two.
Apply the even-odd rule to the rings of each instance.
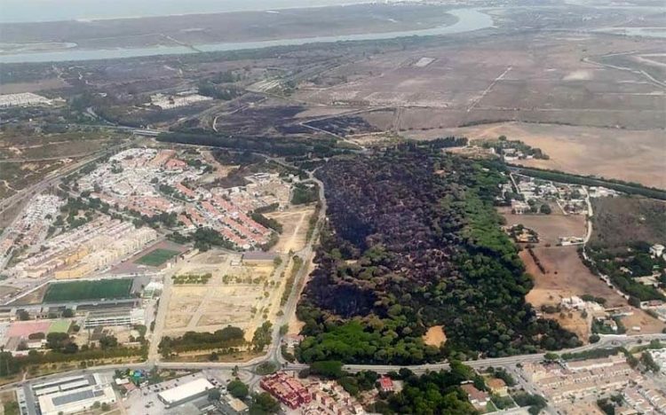
[[[543,304],[556,305],[563,297],[583,294],[607,299],[608,307],[627,305],[627,301],[583,265],[576,247],[535,247],[534,251],[547,274],[538,269],[527,250],[519,255],[534,278],[535,287],[526,295],[526,300],[536,308]]]

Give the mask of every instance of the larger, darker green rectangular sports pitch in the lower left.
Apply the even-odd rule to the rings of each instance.
[[[54,283],[46,290],[44,302],[127,298],[131,284],[131,278]]]

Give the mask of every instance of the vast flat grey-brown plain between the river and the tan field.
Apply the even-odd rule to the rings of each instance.
[[[617,51],[645,53],[660,39],[607,35],[498,35],[389,52],[337,67],[348,82],[303,88],[297,98],[325,105],[388,106],[393,116],[363,114],[378,129],[416,131],[488,121],[526,121],[662,129],[663,87],[641,73],[584,59]],[[426,67],[422,58],[435,59]],[[638,72],[638,71],[637,71]]]

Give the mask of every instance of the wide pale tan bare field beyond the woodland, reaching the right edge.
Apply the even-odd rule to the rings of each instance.
[[[503,122],[408,134],[416,138],[448,135],[469,138],[497,138],[503,135],[539,147],[551,158],[519,161],[527,167],[551,168],[666,188],[663,129],[629,130]]]

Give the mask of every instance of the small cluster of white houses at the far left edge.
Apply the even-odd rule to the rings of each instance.
[[[52,194],[38,194],[20,218],[0,235],[0,270],[20,246],[36,247],[49,230],[64,200]]]

